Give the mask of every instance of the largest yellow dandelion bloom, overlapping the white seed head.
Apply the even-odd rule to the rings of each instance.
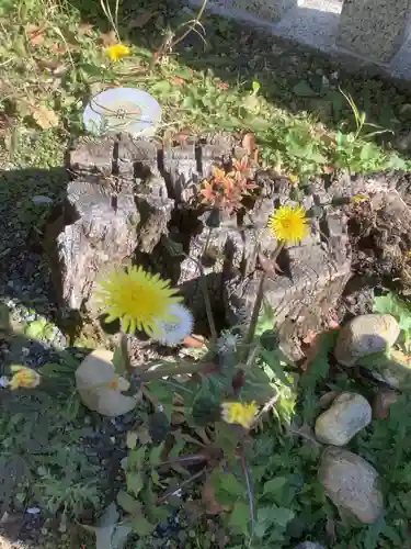
[[[107,323],[119,318],[123,332],[134,334],[136,329],[152,336],[159,322],[173,321],[170,305],[179,303],[176,290],[169,280],[150,274],[141,267],[128,271],[116,270],[100,283],[98,300]]]

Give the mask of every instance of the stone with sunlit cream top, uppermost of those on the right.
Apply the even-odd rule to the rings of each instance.
[[[363,314],[345,324],[339,333],[334,357],[343,366],[392,347],[400,335],[398,322],[390,314]]]

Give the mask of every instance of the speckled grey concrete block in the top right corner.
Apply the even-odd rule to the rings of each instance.
[[[344,0],[336,43],[388,63],[406,40],[411,0]]]

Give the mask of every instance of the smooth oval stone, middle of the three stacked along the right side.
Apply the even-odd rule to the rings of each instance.
[[[372,407],[362,394],[342,393],[316,421],[316,437],[320,442],[344,446],[373,417]]]

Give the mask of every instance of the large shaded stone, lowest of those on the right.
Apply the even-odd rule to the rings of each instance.
[[[384,509],[378,473],[365,459],[329,447],[321,457],[318,479],[332,503],[363,524],[373,524]]]

